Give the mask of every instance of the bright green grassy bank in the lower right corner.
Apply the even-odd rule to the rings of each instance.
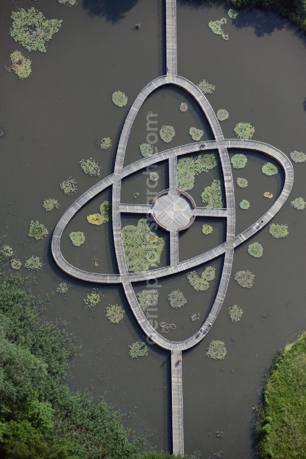
[[[278,354],[258,411],[261,458],[306,458],[306,332]]]

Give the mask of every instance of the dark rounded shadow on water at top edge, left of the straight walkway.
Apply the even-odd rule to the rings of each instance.
[[[123,19],[128,11],[139,0],[83,0],[82,8],[88,11],[89,16],[104,16],[107,21],[117,22]]]

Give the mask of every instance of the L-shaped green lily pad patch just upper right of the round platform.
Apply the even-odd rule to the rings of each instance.
[[[184,157],[178,160],[178,189],[192,190],[195,185],[195,175],[208,172],[217,166],[214,153],[200,153],[195,157]]]

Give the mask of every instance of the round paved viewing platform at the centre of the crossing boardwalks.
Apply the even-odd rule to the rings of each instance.
[[[194,208],[194,200],[185,191],[164,190],[152,202],[152,215],[161,228],[178,231],[194,222]]]

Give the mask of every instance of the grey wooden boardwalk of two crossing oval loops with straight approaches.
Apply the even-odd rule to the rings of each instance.
[[[172,443],[173,453],[184,455],[184,427],[183,427],[183,396],[182,396],[182,351],[189,349],[198,342],[200,342],[208,333],[211,325],[214,323],[218,312],[223,304],[225,293],[230,278],[234,248],[246,241],[257,231],[259,231],[271,218],[279,211],[284,202],[289,196],[289,192],[293,185],[293,168],[289,159],[279,150],[273,146],[267,145],[263,142],[253,140],[224,140],[215,113],[213,112],[206,97],[201,93],[199,88],[186,78],[177,75],[177,52],[176,52],[176,1],[166,1],[166,74],[156,78],[147,84],[139,93],[133,105],[128,112],[125,120],[122,133],[120,136],[117,156],[114,168],[114,174],[101,180],[99,183],[91,187],[82,196],[80,196],[64,213],[52,237],[52,255],[59,268],[68,275],[88,282],[96,284],[102,283],[122,283],[126,297],[130,307],[137,319],[139,326],[150,339],[163,349],[171,351],[171,381],[172,381]],[[156,89],[163,85],[172,84],[184,90],[189,94],[200,106],[200,109],[209,123],[211,134],[214,140],[204,142],[194,142],[189,145],[171,148],[165,151],[156,153],[151,157],[146,157],[135,161],[127,167],[123,168],[124,155],[130,134],[131,127],[134,123],[135,117],[139,112],[145,99]],[[231,166],[228,157],[228,148],[234,149],[248,149],[251,151],[260,151],[278,161],[284,168],[285,181],[283,190],[278,196],[273,206],[262,215],[257,222],[252,224],[249,228],[245,229],[239,235],[235,235],[235,202],[234,202],[234,187],[231,173]],[[197,257],[190,258],[184,262],[178,261],[178,227],[173,226],[170,228],[170,265],[151,269],[145,273],[128,273],[122,244],[121,234],[121,214],[122,213],[135,213],[135,214],[152,214],[153,208],[146,204],[125,204],[122,202],[121,197],[121,180],[136,171],[146,168],[153,163],[168,160],[169,162],[169,190],[171,193],[176,193],[177,190],[177,160],[181,155],[188,153],[197,153],[199,151],[207,151],[215,149],[220,156],[224,187],[226,195],[226,207],[223,209],[208,209],[206,207],[195,207],[192,205],[192,214],[195,217],[210,217],[210,218],[226,218],[227,221],[227,239],[226,242],[221,244],[209,252],[201,254]],[[68,263],[61,253],[60,241],[61,235],[71,218],[83,207],[84,204],[89,202],[94,196],[97,196],[101,191],[107,187],[112,186],[112,223],[115,252],[117,257],[117,265],[119,274],[99,274],[90,273],[73,267]],[[166,200],[165,200],[166,202]],[[172,209],[173,210],[173,209]],[[172,212],[170,210],[170,212]],[[187,211],[186,211],[187,212]],[[188,210],[190,212],[190,209]],[[170,213],[168,213],[168,216]],[[187,215],[187,214],[186,214]],[[181,224],[188,221],[181,212],[179,220]],[[190,215],[190,213],[188,214]],[[193,217],[193,218],[195,218]],[[156,218],[158,219],[158,218]],[[261,223],[261,220],[263,223]],[[173,221],[173,215],[172,215]],[[192,224],[192,221],[189,221]],[[169,224],[166,224],[166,227]],[[188,269],[192,269],[202,263],[206,263],[216,257],[224,255],[223,272],[220,285],[217,291],[217,297],[212,305],[211,311],[200,329],[188,339],[184,341],[169,341],[160,333],[158,333],[149,323],[145,316],[145,312],[140,308],[137,301],[132,282],[150,280],[175,274]]]

